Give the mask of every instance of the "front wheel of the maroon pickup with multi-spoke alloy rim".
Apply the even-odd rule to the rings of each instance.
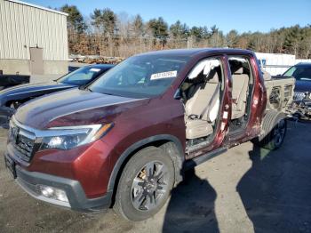
[[[163,149],[148,147],[125,165],[114,209],[130,221],[143,221],[165,204],[174,183],[174,166]]]

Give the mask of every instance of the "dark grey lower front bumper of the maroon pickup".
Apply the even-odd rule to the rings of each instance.
[[[99,211],[108,208],[111,204],[112,192],[108,192],[103,197],[87,198],[79,181],[46,173],[28,172],[20,165],[15,165],[8,155],[5,155],[5,160],[5,164],[11,166],[9,170],[20,187],[36,199],[82,212]],[[55,195],[49,197],[46,195],[46,191],[49,190],[56,191],[62,198],[55,198]]]

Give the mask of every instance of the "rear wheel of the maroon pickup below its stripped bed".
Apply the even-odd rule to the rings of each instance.
[[[263,120],[262,130],[264,134],[253,142],[261,148],[279,149],[287,132],[286,117],[282,113],[269,111]]]

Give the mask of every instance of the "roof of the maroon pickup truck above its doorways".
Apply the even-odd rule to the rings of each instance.
[[[253,54],[250,50],[242,49],[224,49],[224,48],[196,48],[196,49],[172,49],[160,50],[154,52],[145,52],[141,55],[175,55],[175,56],[195,56],[199,53],[242,53]],[[140,54],[139,54],[140,55]]]

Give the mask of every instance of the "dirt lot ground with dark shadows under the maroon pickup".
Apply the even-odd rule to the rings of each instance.
[[[0,130],[0,153],[6,132]],[[311,232],[311,124],[289,124],[283,148],[244,143],[199,165],[148,221],[75,213],[36,201],[0,159],[0,232]]]

